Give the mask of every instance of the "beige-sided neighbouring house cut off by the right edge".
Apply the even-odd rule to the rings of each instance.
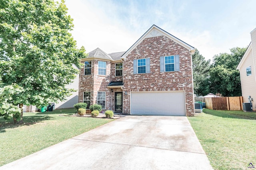
[[[252,106],[256,108],[256,28],[250,34],[252,41],[236,69],[240,71],[244,103],[248,103],[248,96],[251,96]]]

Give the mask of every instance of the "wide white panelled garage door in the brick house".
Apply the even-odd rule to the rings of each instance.
[[[132,115],[186,115],[184,91],[131,92]]]

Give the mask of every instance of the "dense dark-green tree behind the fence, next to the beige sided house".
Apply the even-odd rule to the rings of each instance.
[[[232,48],[231,53],[220,53],[213,57],[210,69],[210,90],[222,96],[241,96],[239,70],[236,70],[246,48]]]

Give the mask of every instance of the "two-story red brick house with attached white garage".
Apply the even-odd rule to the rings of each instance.
[[[79,102],[132,115],[194,115],[194,47],[152,25],[130,49],[82,59]]]

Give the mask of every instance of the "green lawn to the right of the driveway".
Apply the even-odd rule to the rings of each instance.
[[[204,109],[188,117],[215,170],[244,170],[256,165],[256,113]]]

